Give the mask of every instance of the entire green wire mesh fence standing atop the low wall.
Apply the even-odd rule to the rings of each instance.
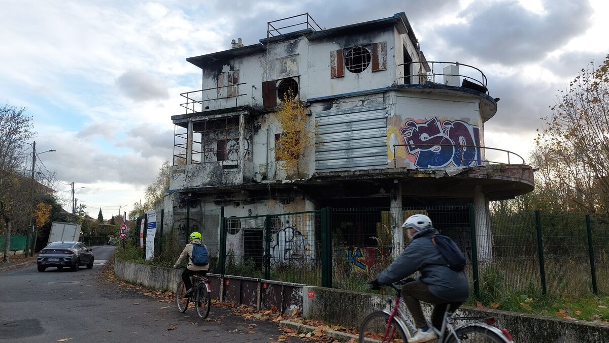
[[[220,214],[217,273],[366,291],[426,214],[468,261],[478,298],[609,294],[609,218],[468,206]]]

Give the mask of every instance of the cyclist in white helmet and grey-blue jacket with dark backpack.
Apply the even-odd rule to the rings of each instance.
[[[440,330],[447,306],[454,311],[470,296],[470,281],[463,272],[465,257],[451,239],[438,234],[426,215],[411,215],[402,227],[410,244],[369,284],[371,289],[381,289],[418,271],[417,280],[402,287],[404,302],[419,329],[408,342],[433,341],[437,334],[428,327],[419,301],[435,305],[431,323]]]

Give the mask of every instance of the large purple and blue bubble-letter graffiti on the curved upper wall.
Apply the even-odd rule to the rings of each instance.
[[[467,121],[438,117],[408,118],[397,131],[395,142],[407,146],[396,147],[396,158],[405,157],[404,162],[410,162],[414,167],[464,167],[482,164],[479,148],[480,129]]]

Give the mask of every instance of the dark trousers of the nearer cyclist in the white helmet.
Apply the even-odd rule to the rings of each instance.
[[[434,311],[431,314],[431,323],[435,328],[440,330],[442,328],[442,320],[444,319],[444,312],[448,306],[451,306],[451,311],[455,311],[462,303],[448,303],[446,300],[436,297],[432,292],[429,291],[429,287],[422,281],[413,281],[404,284],[402,287],[402,297],[408,307],[408,311],[412,314],[415,320],[417,328],[427,327],[425,316],[423,316],[423,309],[421,309],[421,303],[419,301],[425,301],[426,303],[434,304]]]

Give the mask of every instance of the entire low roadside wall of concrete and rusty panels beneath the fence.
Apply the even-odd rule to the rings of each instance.
[[[129,283],[141,284],[160,291],[175,292],[181,270],[154,267],[130,262],[114,262],[114,275]],[[370,312],[387,308],[389,295],[343,291],[279,281],[208,274],[211,281],[211,297],[220,301],[291,313],[298,308],[308,319],[320,319],[326,323],[359,328]],[[423,304],[429,317],[430,306]],[[507,328],[515,342],[570,343],[609,342],[609,325],[516,312],[463,307],[462,316],[493,316],[499,328]]]

